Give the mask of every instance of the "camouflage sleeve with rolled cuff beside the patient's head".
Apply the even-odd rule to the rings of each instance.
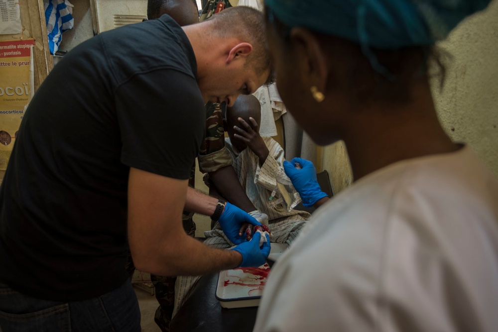
[[[203,173],[232,165],[232,156],[225,147],[225,130],[220,104],[206,104],[206,137],[197,159],[199,170]]]

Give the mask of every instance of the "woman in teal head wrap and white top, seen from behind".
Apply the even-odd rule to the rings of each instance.
[[[344,141],[354,183],[329,200],[313,164],[284,163],[319,209],[273,265],[254,331],[498,331],[498,181],[441,127],[428,73],[435,43],[489,2],[265,0],[280,96],[317,144]]]

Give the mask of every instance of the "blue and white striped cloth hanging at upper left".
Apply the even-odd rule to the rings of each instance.
[[[62,33],[74,25],[74,18],[71,15],[73,5],[68,0],[43,0],[43,7],[50,54],[55,54],[59,49]]]

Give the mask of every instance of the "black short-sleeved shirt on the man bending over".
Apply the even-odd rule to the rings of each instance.
[[[1,185],[1,281],[54,301],[123,284],[129,167],[189,178],[206,121],[196,75],[167,15],[93,37],[54,67]]]

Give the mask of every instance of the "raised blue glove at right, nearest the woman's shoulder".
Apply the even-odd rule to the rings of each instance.
[[[301,169],[295,167],[296,163],[301,165]],[[327,197],[316,180],[315,166],[309,160],[293,158],[290,163],[284,161],[283,169],[301,196],[305,207],[312,207],[319,199]]]

